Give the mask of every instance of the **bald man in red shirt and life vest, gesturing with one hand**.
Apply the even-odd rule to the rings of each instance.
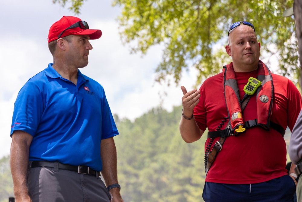
[[[290,80],[272,74],[259,60],[260,43],[250,22],[230,26],[225,48],[232,63],[222,73],[208,78],[199,90],[187,92],[181,87],[182,138],[190,143],[199,140],[206,128],[210,131],[203,198],[293,201],[297,182],[293,168],[290,175],[285,169],[283,136],[287,126],[293,129],[300,112],[300,93]],[[245,95],[250,77],[262,84],[255,94]],[[246,106],[241,104],[243,98]]]

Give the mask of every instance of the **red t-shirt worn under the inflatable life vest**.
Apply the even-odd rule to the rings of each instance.
[[[243,87],[249,77],[257,78],[257,70],[236,73],[240,100],[243,98]],[[274,101],[271,121],[284,129],[288,126],[292,130],[302,106],[300,93],[287,78],[275,74],[272,74],[272,78]],[[223,74],[208,78],[201,85],[200,91],[201,97],[194,108],[194,118],[201,130],[205,131],[208,128],[209,131],[216,131],[223,118],[228,116],[223,94]],[[242,112],[243,121],[257,118],[256,109],[256,94],[254,94]],[[226,123],[222,129],[225,126]],[[214,139],[211,149],[218,140],[219,137]],[[226,138],[205,181],[254,184],[281,177],[287,174],[286,154],[286,144],[279,132],[272,128],[265,131],[261,127],[252,127],[236,137]]]

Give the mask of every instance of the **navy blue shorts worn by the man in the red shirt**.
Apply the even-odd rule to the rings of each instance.
[[[293,202],[296,185],[289,175],[257,184],[220,184],[206,182],[202,197],[205,202],[280,201]]]

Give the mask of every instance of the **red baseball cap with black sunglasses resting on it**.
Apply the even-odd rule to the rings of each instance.
[[[64,15],[63,18],[61,18],[59,21],[51,25],[48,32],[48,38],[47,38],[48,43],[58,39],[58,36],[60,34],[62,34],[60,38],[69,35],[89,35],[90,39],[98,39],[102,36],[101,30],[89,29],[88,24],[86,22],[84,22],[84,24],[87,26],[86,28],[80,28],[80,26],[76,26],[75,28],[66,29],[71,25],[80,21],[82,21],[80,18]],[[62,33],[62,31],[64,32]]]

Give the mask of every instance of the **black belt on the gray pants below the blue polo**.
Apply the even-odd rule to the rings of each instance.
[[[54,164],[55,164],[55,162],[49,162],[49,161],[33,161],[30,168],[34,168],[34,167],[54,168]],[[79,174],[95,175],[97,173],[98,176],[101,175],[100,172],[92,170],[90,167],[84,166],[84,165],[72,166],[72,165],[68,165],[68,164],[59,163],[59,169],[63,169],[63,170],[67,170],[67,171],[73,171],[73,172],[77,172]]]

